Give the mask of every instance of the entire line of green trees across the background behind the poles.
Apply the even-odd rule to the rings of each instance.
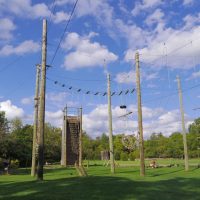
[[[31,165],[33,126],[23,124],[19,118],[8,121],[4,112],[0,112],[0,161],[2,159],[17,160],[21,167]],[[124,142],[124,134],[113,136],[115,160],[134,160],[139,158],[137,140],[133,137],[134,147],[128,148]],[[188,153],[190,158],[200,156],[200,118],[189,127],[187,133]],[[101,151],[109,150],[108,136],[92,138],[83,133],[83,159],[101,159]],[[169,137],[163,133],[152,133],[144,141],[146,158],[183,158],[183,139],[179,132]],[[60,162],[61,129],[45,124],[45,161]],[[1,162],[0,162],[1,167]]]

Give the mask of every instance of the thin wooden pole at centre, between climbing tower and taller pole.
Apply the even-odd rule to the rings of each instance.
[[[112,130],[112,110],[111,110],[111,91],[110,91],[110,74],[107,74],[108,81],[108,120],[109,120],[109,147],[110,147],[110,167],[111,173],[115,173],[114,148],[113,148],[113,130]]]

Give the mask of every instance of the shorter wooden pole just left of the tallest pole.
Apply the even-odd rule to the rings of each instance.
[[[34,127],[33,127],[33,147],[32,147],[32,167],[31,176],[36,173],[36,156],[37,156],[37,137],[38,137],[38,102],[39,102],[39,86],[40,86],[40,64],[36,65],[36,83],[35,83],[35,109],[34,109]]]

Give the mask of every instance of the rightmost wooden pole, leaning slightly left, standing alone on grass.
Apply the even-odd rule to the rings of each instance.
[[[184,146],[184,159],[185,159],[185,171],[189,170],[188,164],[188,148],[187,148],[187,137],[186,137],[186,129],[185,129],[185,117],[184,117],[184,109],[183,109],[183,95],[181,89],[181,81],[179,76],[177,78],[178,83],[178,93],[179,93],[179,102],[180,102],[180,113],[181,113],[181,120],[182,120],[182,131],[183,131],[183,146]]]

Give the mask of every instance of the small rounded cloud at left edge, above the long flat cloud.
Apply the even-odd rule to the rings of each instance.
[[[13,37],[12,31],[15,30],[16,26],[12,20],[8,18],[0,19],[0,40],[9,40]]]

